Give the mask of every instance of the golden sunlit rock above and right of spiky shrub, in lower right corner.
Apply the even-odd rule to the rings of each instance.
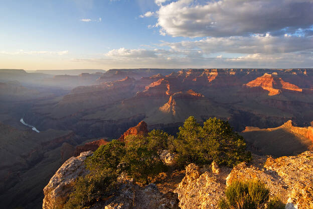
[[[227,185],[235,179],[259,179],[283,202],[290,202],[298,209],[313,208],[312,157],[311,151],[297,156],[269,157],[263,169],[241,163],[227,177]]]

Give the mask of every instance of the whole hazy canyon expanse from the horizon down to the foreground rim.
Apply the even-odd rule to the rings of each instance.
[[[72,156],[128,134],[176,135],[189,116],[228,121],[258,155],[312,148],[313,69],[60,73],[0,69],[0,147],[7,159],[0,199],[7,208],[40,208],[43,187]]]

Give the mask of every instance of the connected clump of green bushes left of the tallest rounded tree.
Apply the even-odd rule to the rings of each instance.
[[[122,171],[136,181],[147,183],[148,177],[154,177],[166,169],[160,154],[168,146],[168,137],[161,130],[153,130],[147,137],[130,135],[126,137],[126,143],[112,140],[100,146],[85,160],[86,168],[91,172],[78,178],[64,208],[83,208],[109,195]]]

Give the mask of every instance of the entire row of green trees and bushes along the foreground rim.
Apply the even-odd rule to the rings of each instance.
[[[176,153],[174,166],[177,168],[213,161],[232,167],[251,159],[245,148],[244,139],[228,122],[210,118],[201,126],[192,116],[179,128],[177,138],[162,130],[152,130],[147,136],[129,135],[124,142],[112,140],[86,159],[90,173],[78,178],[65,208],[82,208],[109,196],[110,190],[117,186],[118,175],[123,172],[139,184],[149,183],[167,170],[161,160],[163,150]]]

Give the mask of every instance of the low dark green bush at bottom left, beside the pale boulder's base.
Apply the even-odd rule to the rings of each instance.
[[[64,209],[80,209],[91,205],[100,197],[109,195],[114,187],[117,175],[111,170],[102,170],[96,173],[79,177],[75,182],[74,191],[65,203]]]

